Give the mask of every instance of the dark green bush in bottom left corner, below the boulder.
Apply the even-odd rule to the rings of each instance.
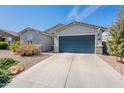
[[[0,69],[0,87],[5,86],[11,81],[11,76],[6,70]]]

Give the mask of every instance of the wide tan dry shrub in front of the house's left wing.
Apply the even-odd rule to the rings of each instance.
[[[41,47],[34,44],[21,44],[18,46],[16,53],[21,56],[33,56],[39,55]]]

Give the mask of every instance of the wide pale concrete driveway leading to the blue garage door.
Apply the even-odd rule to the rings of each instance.
[[[124,87],[124,77],[95,54],[54,54],[23,72],[7,88]]]

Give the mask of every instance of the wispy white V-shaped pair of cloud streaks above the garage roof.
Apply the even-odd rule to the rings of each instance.
[[[73,20],[73,21],[80,21],[82,19],[87,18],[92,13],[94,13],[98,8],[100,8],[100,5],[98,6],[88,6],[87,8],[83,9],[80,13],[78,13],[80,6],[75,6],[71,12],[67,16],[67,21]]]

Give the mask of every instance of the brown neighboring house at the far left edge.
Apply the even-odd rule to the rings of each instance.
[[[16,32],[0,29],[0,41],[17,41],[19,35]]]

